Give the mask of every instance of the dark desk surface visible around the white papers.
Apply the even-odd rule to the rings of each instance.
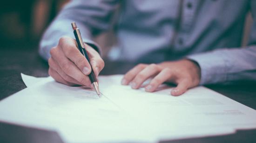
[[[133,65],[110,63],[101,74],[123,74]],[[118,69],[116,68],[118,67]],[[37,54],[37,50],[14,51],[0,49],[0,100],[26,88],[20,73],[35,77],[47,77],[48,65]],[[208,88],[222,93],[242,104],[256,109],[256,82],[236,85],[209,85]],[[58,133],[38,130],[13,124],[0,123],[0,143],[62,143]],[[172,140],[168,143],[256,143],[256,130],[238,130],[236,134]]]

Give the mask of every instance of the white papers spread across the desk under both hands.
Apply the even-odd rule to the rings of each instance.
[[[100,76],[101,97],[85,87],[22,74],[27,88],[0,101],[0,121],[56,130],[65,142],[158,142],[256,128],[256,110],[205,87],[179,97]]]

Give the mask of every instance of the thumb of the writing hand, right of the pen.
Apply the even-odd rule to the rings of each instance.
[[[94,50],[91,46],[84,44],[86,47],[86,51],[88,52],[88,56],[90,58],[90,64],[92,65],[92,69],[96,76],[99,75],[100,71],[104,68],[105,63],[101,58],[100,54]]]

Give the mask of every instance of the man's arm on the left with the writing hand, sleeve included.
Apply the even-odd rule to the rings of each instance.
[[[118,0],[73,0],[48,27],[40,42],[40,55],[48,60],[49,75],[67,85],[91,86],[91,70],[98,76],[104,67],[98,46],[91,38],[111,26]],[[90,64],[76,47],[71,22],[81,31]],[[97,51],[97,52],[96,52]]]

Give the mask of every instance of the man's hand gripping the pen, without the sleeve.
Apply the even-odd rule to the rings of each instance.
[[[86,51],[92,68],[76,47],[75,39],[62,37],[59,44],[50,51],[52,57],[48,60],[49,75],[62,84],[91,87],[88,75],[93,69],[96,77],[98,77],[104,67],[104,61],[91,46],[86,45]]]

